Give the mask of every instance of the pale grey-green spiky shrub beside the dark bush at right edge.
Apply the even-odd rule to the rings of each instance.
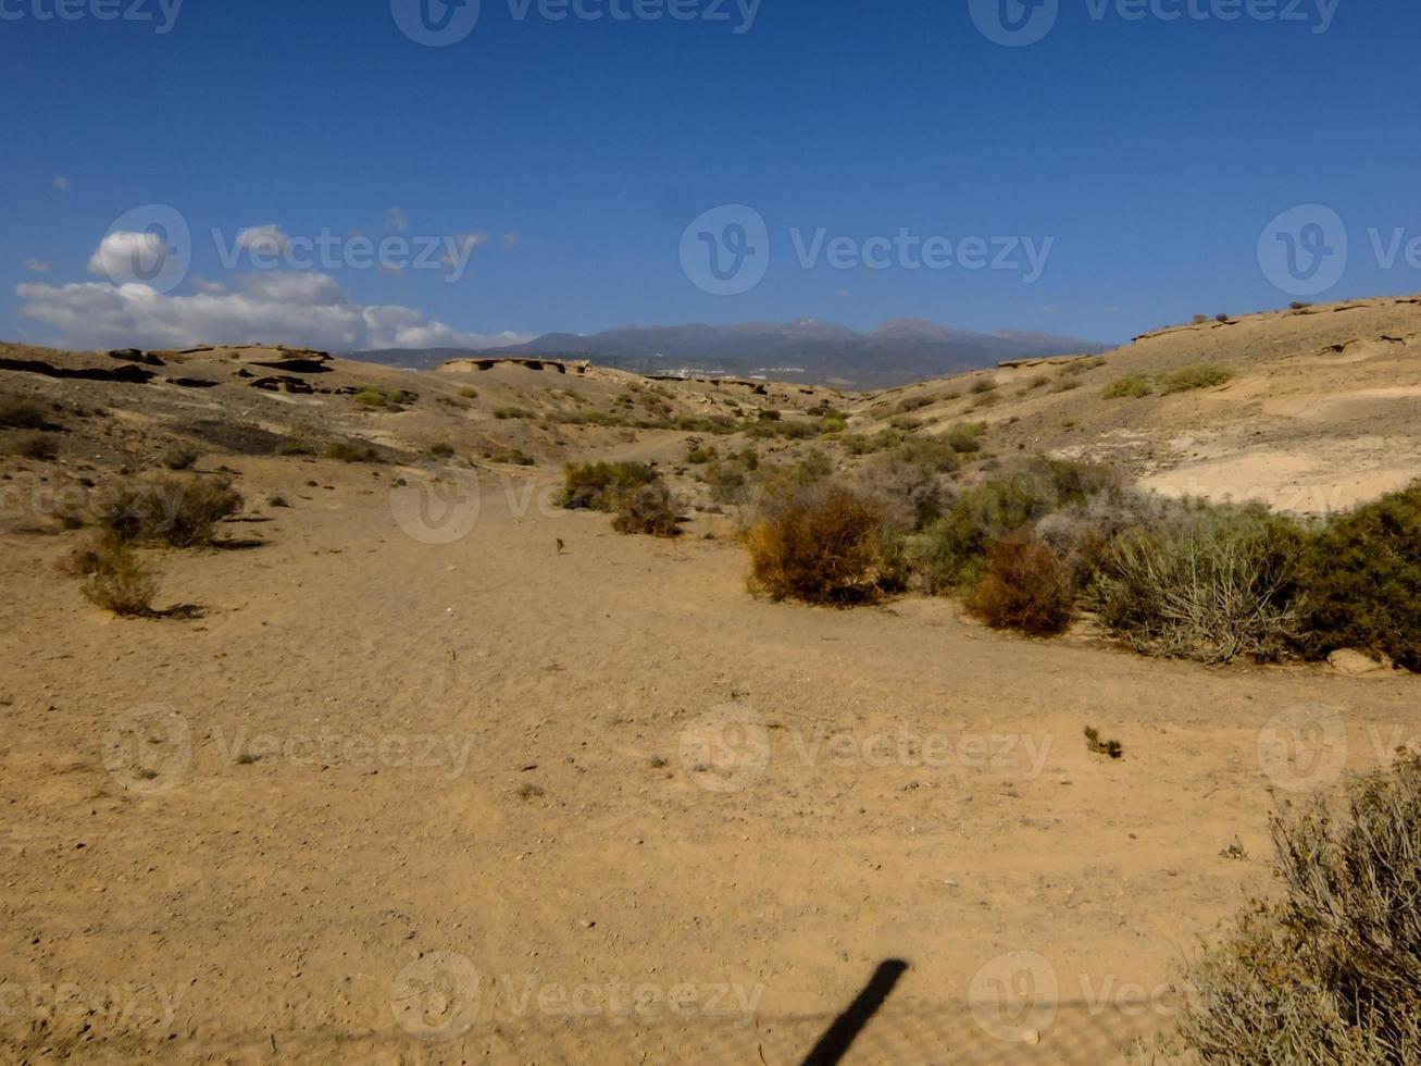
[[[1115,539],[1093,598],[1144,654],[1272,661],[1299,638],[1303,546],[1263,507],[1178,509]]]

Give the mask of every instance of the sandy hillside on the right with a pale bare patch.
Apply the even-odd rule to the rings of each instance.
[[[1196,362],[1236,377],[1199,392],[1101,397],[1118,378]],[[1088,365],[982,371],[875,394],[857,409],[881,421],[905,401],[931,401],[912,412],[929,432],[980,419],[1002,452],[1108,461],[1168,495],[1303,513],[1347,509],[1421,475],[1421,297],[1175,327]],[[995,387],[989,405],[972,392],[978,382]]]

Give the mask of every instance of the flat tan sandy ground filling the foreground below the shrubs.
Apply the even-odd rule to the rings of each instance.
[[[111,620],[50,571],[68,537],[3,537],[3,1060],[794,1063],[902,958],[848,1062],[1106,1062],[1169,1022],[1123,982],[1160,989],[1269,887],[1270,719],[1334,708],[1354,768],[1418,731],[1405,678],[1030,642],[945,601],[774,605],[725,540],[620,537],[489,475],[436,546],[388,473],[240,466],[296,506],[242,527],[267,547],[163,560],[196,624]],[[128,738],[107,772],[155,704],[190,760],[151,743],[135,776]],[[764,732],[702,718],[728,706]],[[435,964],[453,984],[414,995]],[[617,1016],[617,982],[657,1002]],[[469,1028],[415,1039],[411,1002]]]

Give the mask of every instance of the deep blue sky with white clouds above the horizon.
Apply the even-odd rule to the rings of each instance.
[[[399,28],[406,0],[165,1],[63,0],[61,20],[0,0],[0,337],[341,348],[807,316],[1121,341],[1421,290],[1421,6],[1403,0],[1057,0],[1022,47],[979,30],[992,0],[976,20],[978,0],[759,0],[753,18],[753,0],[676,0],[685,20],[581,0],[595,21],[483,0],[446,47]],[[114,9],[149,18],[98,17]],[[142,213],[115,230],[146,205],[192,240],[145,291],[107,235],[151,233]],[[767,242],[729,296],[682,256],[733,263],[723,215],[682,240],[720,205]],[[1299,205],[1326,209],[1296,223],[1304,252],[1336,253],[1340,227],[1347,254],[1279,284],[1259,246],[1282,254],[1268,229]],[[291,256],[323,233],[324,264]],[[898,235],[951,264],[909,269],[884,253]],[[399,237],[408,262],[375,269],[360,237]],[[269,259],[233,259],[239,239]]]

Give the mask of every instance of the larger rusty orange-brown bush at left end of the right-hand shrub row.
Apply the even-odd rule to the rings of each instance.
[[[882,506],[867,495],[806,489],[746,532],[750,584],[773,600],[871,601],[881,588],[884,524]]]

